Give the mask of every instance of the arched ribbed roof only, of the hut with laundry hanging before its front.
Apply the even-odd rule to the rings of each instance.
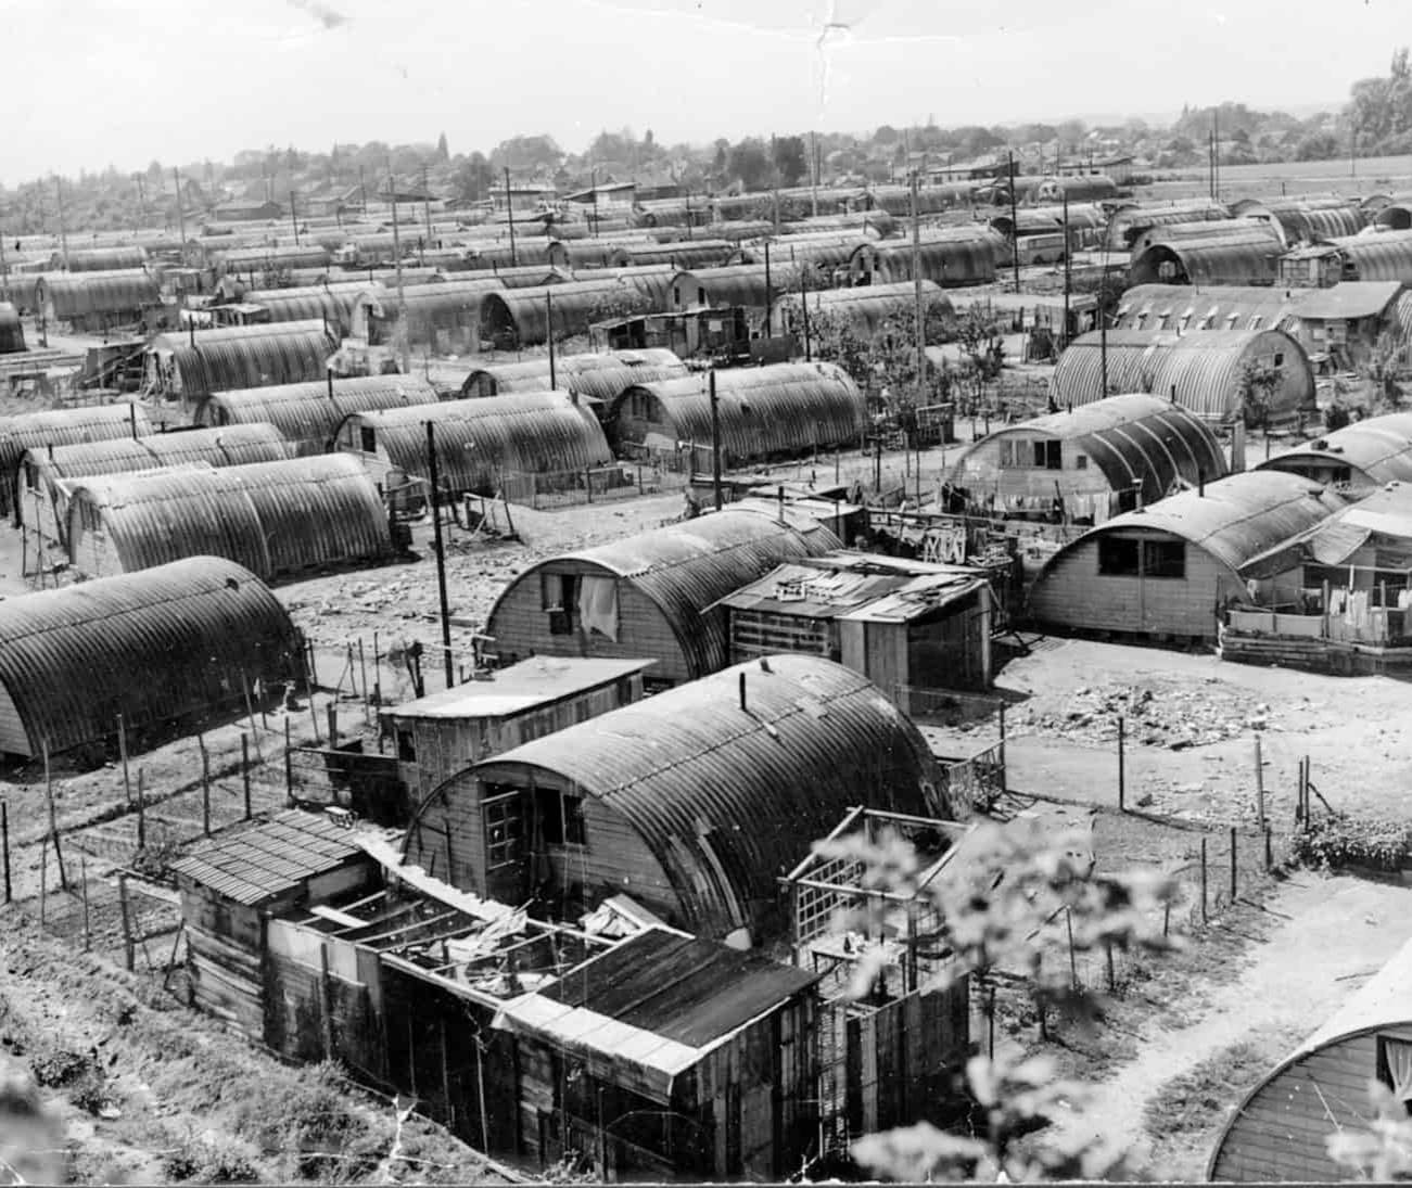
[[[1141,484],[1144,504],[1168,495],[1179,480],[1211,483],[1224,478],[1228,470],[1226,451],[1206,422],[1161,396],[1130,394],[997,429],[962,453],[952,468],[952,481],[964,485],[966,460],[988,442],[1035,433],[1075,442],[1114,491]]]

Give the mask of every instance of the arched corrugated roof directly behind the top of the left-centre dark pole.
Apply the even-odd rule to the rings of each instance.
[[[350,447],[370,429],[377,447],[407,474],[429,477],[426,423],[436,442],[443,492],[493,494],[503,474],[563,474],[607,466],[613,450],[597,416],[563,392],[514,392],[443,401],[349,418]]]

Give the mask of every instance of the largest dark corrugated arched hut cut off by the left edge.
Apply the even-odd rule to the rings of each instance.
[[[28,753],[237,704],[304,673],[288,612],[246,569],[191,557],[0,601],[0,684]]]

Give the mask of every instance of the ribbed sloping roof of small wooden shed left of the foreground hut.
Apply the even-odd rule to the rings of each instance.
[[[363,851],[353,837],[328,814],[291,808],[203,842],[171,869],[178,879],[254,907],[360,861]]]

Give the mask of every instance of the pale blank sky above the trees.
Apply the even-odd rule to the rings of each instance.
[[[1406,0],[0,0],[0,181],[602,128],[662,143],[1336,106]],[[826,27],[829,32],[825,35]],[[822,48],[820,48],[822,47]]]

